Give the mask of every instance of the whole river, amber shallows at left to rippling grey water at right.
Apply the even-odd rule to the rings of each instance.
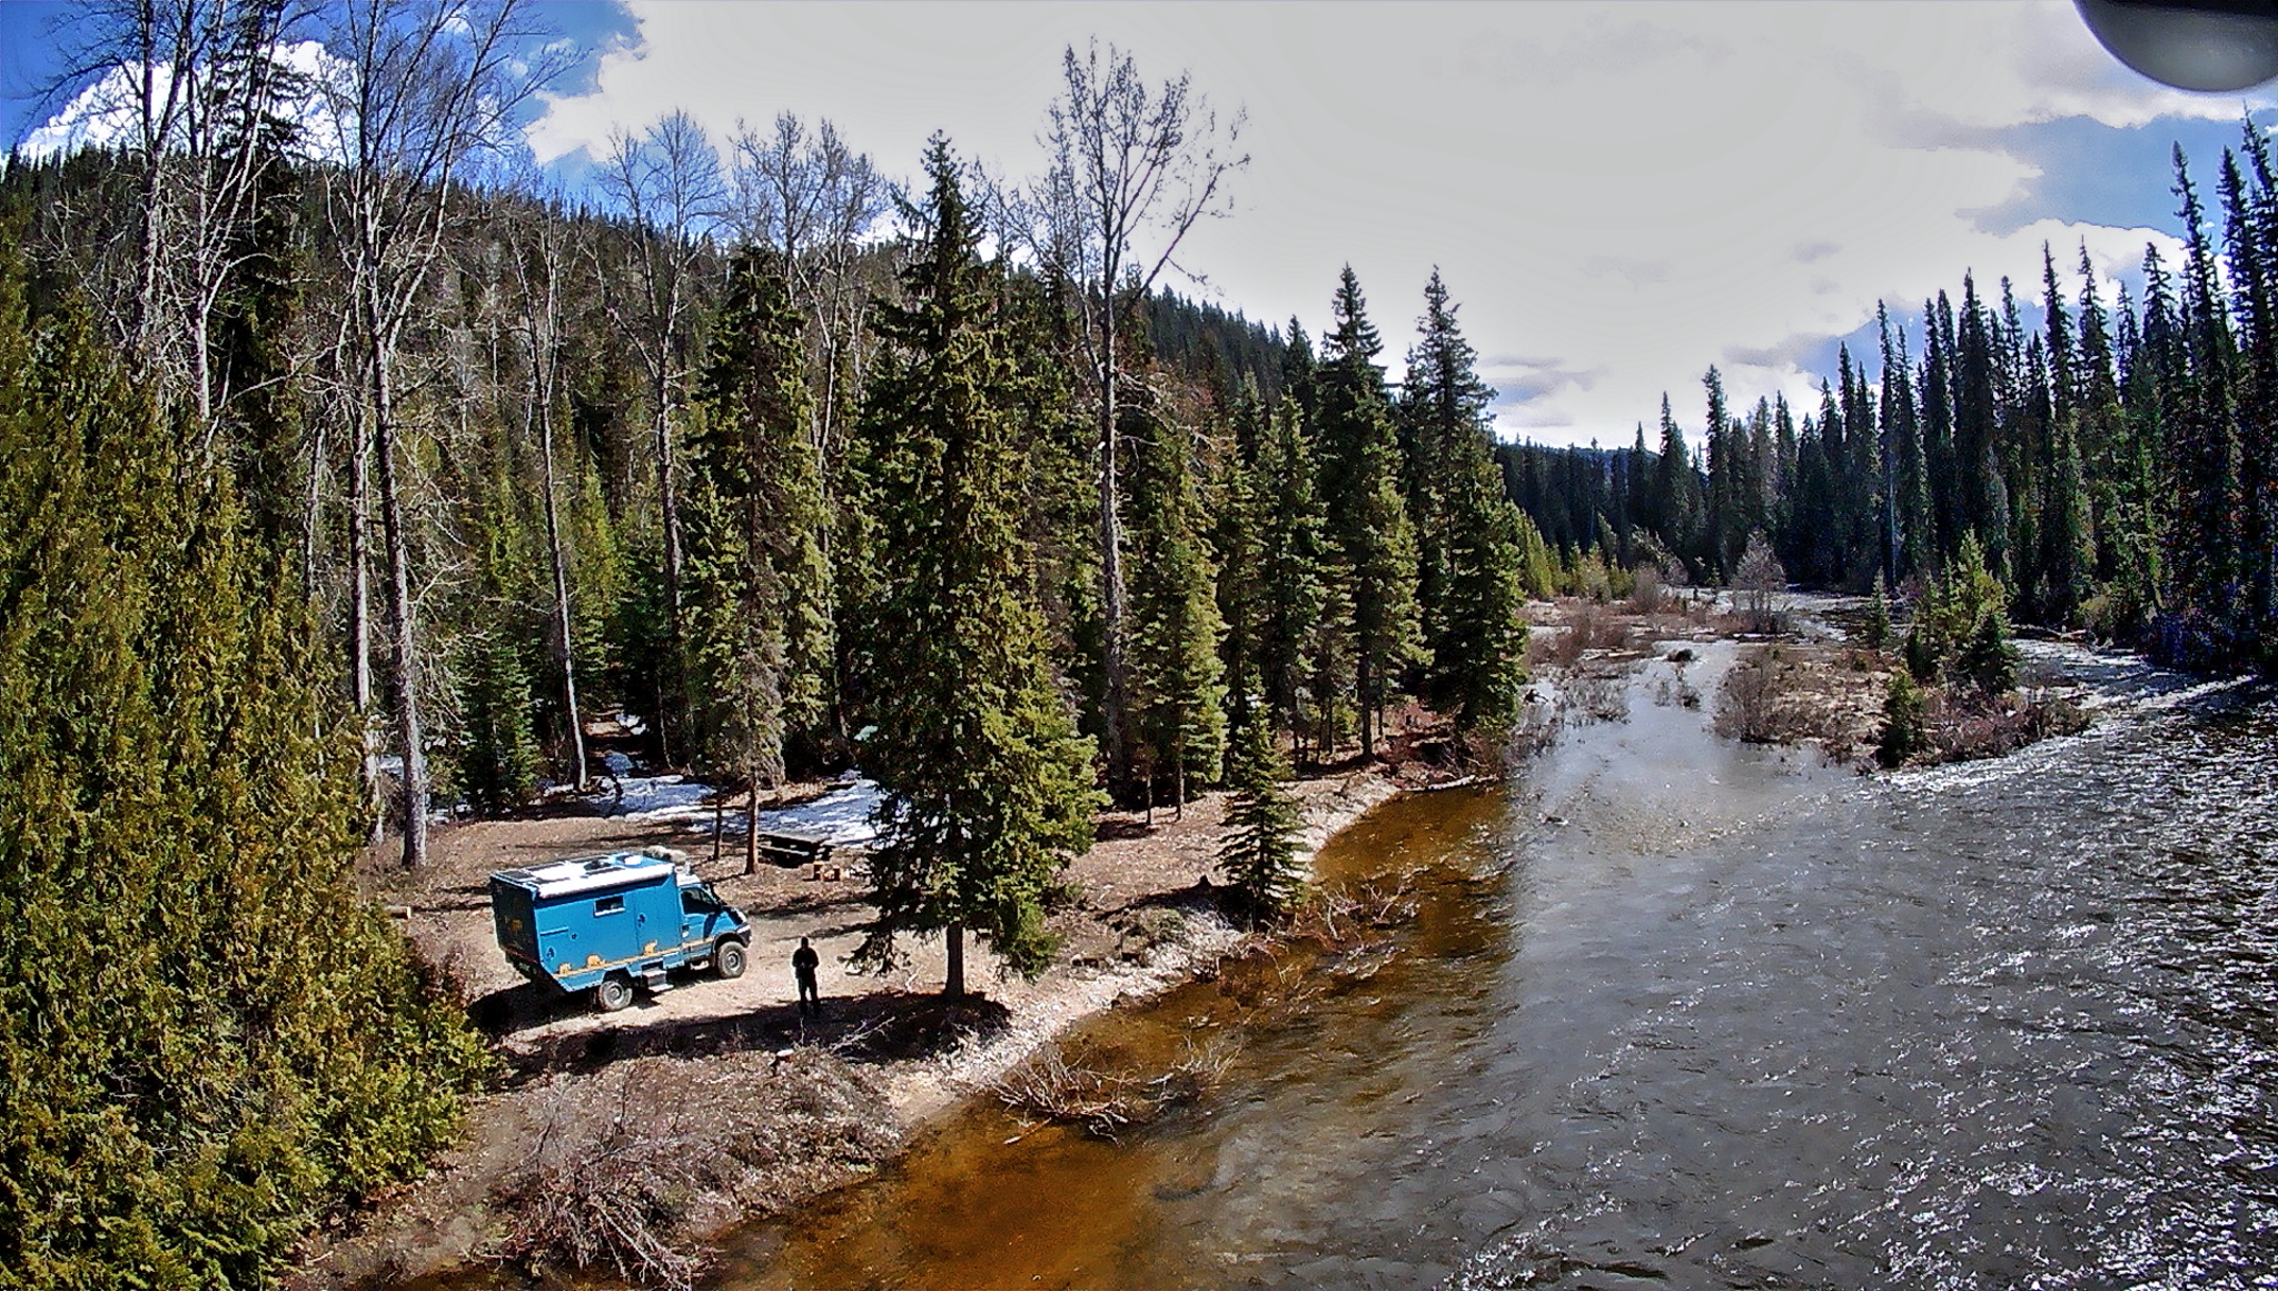
[[[1850,776],[1652,663],[1510,788],[1324,852],[1417,872],[1396,947],[1082,1041],[1239,1045],[1201,1107],[975,1104],[718,1284],[2278,1286],[2278,706],[2062,665],[2084,735]]]

